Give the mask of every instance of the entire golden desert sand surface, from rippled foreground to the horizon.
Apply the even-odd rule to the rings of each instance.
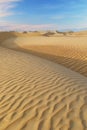
[[[83,33],[0,33],[0,130],[87,130]]]

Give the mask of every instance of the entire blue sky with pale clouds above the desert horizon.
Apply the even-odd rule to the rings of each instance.
[[[0,0],[0,29],[87,28],[87,0]]]

